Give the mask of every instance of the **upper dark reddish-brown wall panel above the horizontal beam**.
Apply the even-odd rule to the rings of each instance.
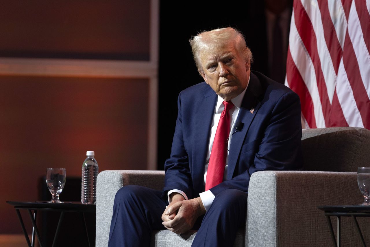
[[[0,57],[149,60],[149,0],[0,0]]]

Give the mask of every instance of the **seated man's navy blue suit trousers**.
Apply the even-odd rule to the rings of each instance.
[[[163,230],[161,216],[166,202],[162,191],[138,185],[122,187],[115,195],[108,247],[148,247],[153,230]],[[232,246],[236,231],[243,227],[247,209],[246,192],[227,189],[219,193],[203,217],[192,247]]]

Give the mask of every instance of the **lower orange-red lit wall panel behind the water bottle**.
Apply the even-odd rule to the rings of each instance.
[[[93,150],[100,171],[147,169],[148,83],[0,77],[0,233],[21,233],[5,201],[37,200],[37,181],[48,167],[80,176]]]

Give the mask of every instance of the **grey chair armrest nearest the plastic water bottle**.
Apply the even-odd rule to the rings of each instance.
[[[141,185],[162,190],[164,171],[111,170],[98,174],[96,195],[96,246],[107,247],[114,197],[125,185]]]

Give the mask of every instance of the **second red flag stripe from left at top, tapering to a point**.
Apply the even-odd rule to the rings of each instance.
[[[339,63],[343,53],[342,46],[340,46],[334,24],[332,22],[332,19],[330,18],[327,1],[319,1],[319,7],[322,13],[322,23],[325,23],[325,25],[323,25],[323,28],[326,45],[329,49],[330,57],[332,58],[335,74],[338,75]]]

